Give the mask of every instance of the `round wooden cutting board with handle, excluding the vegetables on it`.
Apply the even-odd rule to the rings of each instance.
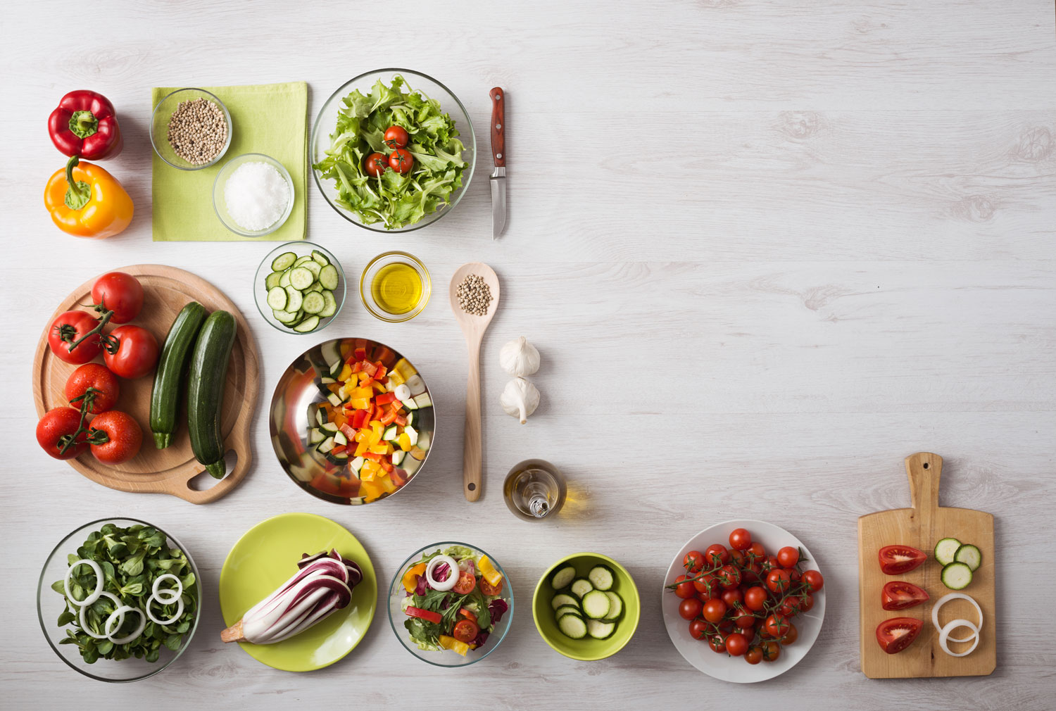
[[[234,316],[238,336],[231,350],[231,362],[227,368],[221,429],[227,451],[233,450],[238,460],[233,469],[212,487],[204,490],[191,488],[190,481],[205,471],[205,467],[199,464],[191,452],[186,425],[186,403],[181,404],[181,414],[177,417],[181,427],[176,430],[172,445],[166,449],[156,449],[149,429],[150,393],[154,385],[152,372],[135,380],[119,379],[120,399],[115,409],[131,414],[143,428],[143,447],[139,453],[116,466],[97,462],[91,452],[68,461],[84,476],[112,489],[169,493],[193,504],[215,501],[238,486],[252,462],[249,429],[257,404],[260,369],[257,345],[246,319],[220,289],[189,272],[161,264],[136,264],[115,270],[131,274],[143,284],[143,312],[132,323],[148,329],[157,339],[159,349],[165,343],[176,314],[190,301],[197,301],[210,313],[223,310]],[[92,277],[63,299],[44,325],[33,359],[33,398],[38,416],[53,408],[69,406],[63,390],[67,378],[77,369],[77,366],[56,358],[48,348],[48,329],[62,312],[92,303],[92,284],[97,278],[98,276]],[[101,360],[101,356],[96,358],[97,362]],[[208,478],[208,474],[205,476]]]

